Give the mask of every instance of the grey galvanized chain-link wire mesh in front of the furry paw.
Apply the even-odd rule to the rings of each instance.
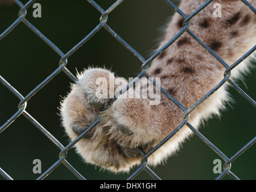
[[[176,41],[184,32],[187,32],[187,34],[189,34],[192,38],[194,38],[195,41],[197,41],[201,46],[204,47],[204,49],[206,49],[213,57],[215,57],[225,68],[226,71],[224,73],[224,78],[221,80],[221,82],[218,83],[218,85],[216,85],[210,92],[208,92],[206,95],[204,95],[204,97],[202,97],[199,101],[197,101],[197,103],[195,103],[192,107],[190,107],[189,109],[186,109],[184,106],[182,106],[180,103],[178,103],[177,100],[175,100],[175,98],[173,98],[171,95],[168,94],[168,92],[166,92],[162,87],[160,87],[159,85],[157,85],[156,82],[154,82],[153,80],[153,84],[154,86],[156,86],[157,88],[160,89],[160,91],[169,98],[169,100],[171,100],[172,102],[174,102],[175,104],[177,104],[178,107],[180,107],[181,110],[183,110],[184,114],[183,114],[183,121],[181,122],[180,125],[178,125],[177,128],[175,128],[174,131],[172,131],[171,134],[169,134],[165,139],[162,140],[162,142],[160,142],[158,145],[156,145],[153,149],[151,149],[151,151],[149,151],[147,154],[145,154],[141,149],[138,149],[139,152],[141,152],[142,154],[142,159],[141,159],[141,166],[138,167],[138,169],[135,170],[135,172],[133,172],[129,178],[127,179],[133,179],[135,178],[136,175],[138,175],[139,172],[141,172],[142,170],[145,170],[149,175],[152,176],[152,178],[154,179],[160,179],[159,176],[156,175],[156,173],[154,173],[148,166],[148,157],[150,157],[151,154],[153,154],[153,152],[155,152],[157,149],[159,149],[165,142],[167,142],[172,136],[174,136],[175,133],[177,133],[178,130],[180,130],[180,128],[182,128],[184,125],[187,125],[187,127],[190,128],[190,130],[192,130],[195,135],[197,137],[199,137],[201,140],[203,140],[204,143],[206,143],[207,146],[209,146],[209,148],[211,148],[213,151],[216,152],[216,154],[219,155],[219,157],[221,157],[224,161],[224,170],[223,172],[218,175],[218,177],[216,179],[222,179],[225,175],[229,175],[231,178],[233,179],[239,179],[236,175],[234,175],[233,172],[231,172],[231,163],[233,163],[234,160],[236,160],[243,152],[245,152],[250,146],[252,146],[255,142],[256,142],[256,137],[254,137],[251,141],[249,141],[245,146],[243,146],[239,151],[236,152],[236,154],[234,154],[232,157],[228,158],[226,157],[226,155],[224,153],[222,153],[218,148],[216,148],[215,145],[213,145],[212,142],[210,142],[206,137],[203,136],[203,134],[200,133],[200,131],[198,131],[197,129],[195,129],[193,127],[193,125],[191,125],[188,120],[189,120],[189,113],[192,112],[192,110],[194,110],[198,105],[200,105],[204,100],[206,100],[206,98],[210,97],[210,95],[212,95],[217,89],[219,89],[222,85],[224,85],[225,82],[230,83],[230,85],[236,89],[237,92],[239,92],[249,103],[252,104],[252,106],[256,107],[256,103],[255,101],[249,97],[249,95],[247,95],[238,85],[236,85],[236,83],[233,82],[233,80],[230,79],[231,76],[231,71],[233,70],[233,68],[235,68],[237,65],[240,64],[240,62],[242,62],[244,59],[246,59],[249,55],[251,55],[255,49],[256,49],[256,45],[254,47],[252,47],[251,50],[249,50],[247,53],[245,53],[245,55],[243,55],[240,59],[238,59],[236,62],[234,62],[233,65],[231,65],[230,67],[218,56],[216,55],[216,53],[214,53],[209,47],[206,46],[206,44],[203,43],[203,41],[201,41],[192,31],[190,31],[189,29],[189,25],[190,25],[190,19],[192,19],[192,17],[196,16],[201,10],[204,9],[204,7],[206,7],[207,5],[210,4],[210,2],[212,2],[213,0],[208,0],[206,2],[204,2],[203,5],[201,5],[199,8],[197,8],[197,10],[195,10],[192,14],[190,14],[189,16],[186,16],[186,14],[184,14],[176,5],[174,5],[171,1],[169,0],[163,0],[166,2],[166,4],[169,5],[169,7],[171,7],[173,10],[175,10],[178,14],[180,14],[180,16],[184,17],[184,22],[183,22],[183,28],[178,32],[177,35],[175,35],[175,37],[173,37],[171,40],[168,41],[168,43],[165,44],[165,46],[161,47],[159,50],[157,50],[157,52],[155,52],[153,55],[150,56],[150,58],[148,59],[144,59],[138,52],[136,52],[135,49],[133,49],[133,47],[131,47],[126,41],[123,40],[123,38],[121,38],[117,33],[115,33],[115,31],[113,31],[111,29],[111,27],[107,24],[108,22],[108,15],[111,13],[112,10],[114,10],[118,5],[121,4],[121,2],[123,2],[124,0],[118,0],[116,1],[114,4],[111,5],[111,7],[109,7],[106,11],[103,10],[103,8],[100,7],[100,5],[98,5],[95,1],[93,0],[87,0],[91,5],[93,5],[94,8],[96,8],[101,14],[102,16],[100,17],[100,23],[96,26],[96,28],[93,29],[93,31],[90,32],[90,34],[88,34],[83,40],[81,40],[78,44],[76,44],[75,47],[73,47],[72,49],[69,50],[69,52],[67,52],[66,54],[64,54],[60,49],[58,49],[58,47],[55,46],[55,44],[52,43],[52,41],[50,41],[46,36],[44,36],[37,28],[35,28],[34,25],[32,25],[28,20],[26,20],[25,16],[26,16],[26,9],[34,4],[36,0],[31,0],[28,1],[25,5],[22,4],[22,2],[20,2],[19,0],[14,0],[14,2],[20,7],[20,11],[18,14],[18,18],[4,31],[2,32],[2,34],[0,35],[0,40],[2,40],[2,38],[4,38],[6,35],[8,35],[8,33],[10,31],[12,31],[17,25],[19,25],[20,22],[23,22],[29,29],[31,29],[31,31],[33,31],[36,35],[38,35],[38,37],[41,38],[41,40],[44,41],[44,43],[46,43],[52,50],[54,50],[59,56],[59,67],[56,68],[55,71],[52,72],[52,74],[50,74],[50,76],[48,76],[46,79],[43,80],[43,82],[41,82],[39,85],[37,85],[31,92],[29,92],[28,95],[26,95],[25,97],[23,97],[23,95],[21,95],[19,93],[19,91],[17,91],[13,86],[10,85],[10,83],[7,82],[7,80],[5,80],[2,76],[0,76],[0,82],[12,93],[14,94],[17,98],[19,98],[20,103],[18,105],[18,110],[16,113],[14,113],[13,116],[11,116],[10,119],[8,119],[8,121],[6,121],[1,127],[0,127],[0,133],[2,133],[2,131],[4,131],[12,122],[14,122],[20,115],[25,116],[26,119],[28,119],[28,121],[30,121],[35,127],[38,128],[38,130],[40,130],[45,136],[47,136],[50,141],[52,141],[56,146],[58,146],[58,148],[61,150],[59,152],[59,159],[51,166],[49,167],[49,169],[46,170],[46,172],[42,173],[37,179],[44,179],[46,178],[47,175],[49,175],[56,167],[59,166],[59,164],[64,164],[69,170],[70,172],[72,172],[78,179],[85,179],[84,176],[82,176],[67,160],[67,151],[72,148],[73,145],[75,145],[75,143],[77,143],[83,136],[85,136],[85,134],[87,134],[90,130],[92,130],[99,122],[100,122],[100,118],[98,118],[90,127],[88,127],[88,129],[86,131],[84,131],[84,133],[82,133],[80,136],[78,136],[75,140],[73,140],[72,142],[70,142],[66,147],[62,146],[62,144],[55,139],[55,137],[52,136],[52,134],[49,133],[49,131],[46,130],[46,128],[44,128],[39,122],[37,122],[36,119],[34,119],[28,112],[26,112],[26,104],[28,102],[28,100],[33,97],[35,94],[37,94],[38,91],[40,91],[41,88],[43,88],[43,86],[45,86],[48,82],[50,82],[50,80],[52,80],[58,73],[60,73],[61,71],[64,71],[64,73],[67,74],[67,76],[70,77],[70,79],[73,80],[73,82],[76,82],[77,79],[76,77],[70,73],[70,71],[66,68],[67,65],[67,59],[69,58],[70,55],[72,55],[73,53],[76,52],[76,50],[79,49],[79,47],[81,47],[83,44],[85,44],[88,40],[90,40],[90,38],[92,38],[99,30],[101,30],[102,28],[106,29],[106,31],[109,32],[109,34],[111,34],[119,43],[121,43],[124,47],[126,47],[127,50],[129,50],[134,56],[136,56],[136,58],[139,59],[139,61],[142,62],[141,65],[141,73],[132,81],[129,83],[129,85],[127,85],[127,88],[130,88],[131,86],[133,86],[133,83],[138,81],[141,77],[150,77],[147,74],[147,68],[148,68],[148,64],[150,64],[151,61],[153,61],[153,59],[155,59],[158,55],[160,55],[160,53],[162,53],[165,49],[167,49],[169,46],[171,46],[172,43],[174,43],[174,41]],[[248,1],[246,0],[241,0],[245,5],[247,5],[251,11],[253,11],[256,14],[256,9],[249,4]],[[0,45],[1,46],[1,45]],[[151,80],[151,78],[149,79]],[[120,94],[122,94],[124,91],[127,90],[127,88],[123,89]],[[112,102],[115,100],[115,98],[112,100]],[[0,174],[5,178],[5,179],[13,179],[11,178],[10,175],[8,175],[8,173],[6,173],[1,167],[0,167]]]

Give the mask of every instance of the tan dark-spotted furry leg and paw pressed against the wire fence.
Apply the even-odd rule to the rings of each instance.
[[[181,1],[180,9],[188,16],[205,1]],[[256,1],[249,1],[254,7]],[[222,5],[222,17],[213,17],[213,4]],[[174,14],[166,27],[159,48],[181,30],[182,18]],[[256,43],[256,16],[241,1],[216,0],[190,20],[189,29],[228,65],[233,64]],[[231,77],[239,76],[248,65],[240,64]],[[186,32],[152,62],[151,77],[160,77],[163,89],[186,109],[189,109],[224,78],[225,68]],[[79,82],[61,104],[62,123],[70,139],[86,130],[101,116],[102,121],[82,140],[76,149],[87,163],[96,164],[112,172],[127,172],[140,164],[142,155],[136,150],[150,151],[183,121],[183,111],[161,94],[158,105],[150,105],[149,98],[118,98],[108,109],[100,112],[111,98],[99,99],[96,91],[98,77],[105,77],[108,96],[115,95],[128,83],[111,89],[114,74],[102,68],[90,68],[78,74]],[[140,91],[140,89],[136,89]],[[145,93],[142,93],[145,94]],[[123,97],[123,96],[122,96]],[[222,86],[190,113],[189,122],[198,128],[203,119],[218,115],[229,97]],[[73,128],[72,128],[73,127]],[[75,132],[73,131],[75,129]],[[173,154],[192,131],[186,126],[148,158],[157,165]]]

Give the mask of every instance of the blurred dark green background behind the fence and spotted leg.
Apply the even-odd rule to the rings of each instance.
[[[25,4],[27,1],[22,1]],[[41,18],[32,16],[28,8],[26,19],[52,41],[63,53],[67,53],[98,24],[100,13],[87,1],[36,1],[41,4]],[[96,0],[107,9],[115,1]],[[177,1],[175,1],[177,3]],[[0,34],[17,19],[19,7],[16,4],[0,7]],[[109,14],[108,25],[117,32],[145,59],[156,48],[160,27],[165,25],[173,11],[159,0],[129,0],[122,2]],[[59,56],[22,22],[0,41],[0,75],[24,97],[58,68]],[[101,29],[68,58],[67,68],[73,73],[88,65],[112,67],[119,76],[135,77],[141,62],[124,48],[105,29]],[[255,65],[255,63],[254,63]],[[252,98],[256,98],[256,70],[237,84]],[[69,143],[60,125],[58,116],[61,96],[69,91],[72,80],[63,72],[44,86],[29,101],[26,111],[33,116],[62,145]],[[200,132],[219,148],[228,158],[253,139],[255,130],[255,108],[239,93],[230,88],[236,103],[228,106],[222,118],[210,119]],[[15,112],[19,100],[0,83],[0,125]],[[0,167],[13,179],[36,179],[32,168],[34,159],[40,159],[42,172],[58,160],[59,148],[44,136],[23,115],[20,115],[0,134]],[[215,179],[213,160],[221,159],[197,136],[183,144],[177,155],[168,158],[164,165],[151,169],[161,179]],[[99,167],[82,162],[70,149],[67,161],[86,179],[126,179],[130,174],[112,174]],[[231,171],[240,179],[256,179],[255,145],[234,161]],[[222,160],[222,165],[224,161]],[[133,169],[130,173],[132,173]],[[0,179],[2,176],[0,176]],[[46,179],[77,179],[63,164]],[[141,172],[135,179],[152,179],[147,172]],[[224,179],[230,179],[225,176]]]

